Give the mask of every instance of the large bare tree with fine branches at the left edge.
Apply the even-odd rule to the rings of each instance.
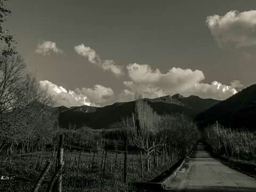
[[[22,151],[41,150],[51,143],[58,124],[58,111],[51,95],[28,73],[19,55],[2,57],[0,67],[0,151],[7,146]],[[36,146],[34,144],[37,143]]]

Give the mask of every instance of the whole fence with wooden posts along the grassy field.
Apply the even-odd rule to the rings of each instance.
[[[179,159],[179,150],[163,145],[147,155],[145,151],[92,149],[63,145],[58,150],[3,159],[1,166],[22,167],[23,177],[15,181],[20,191],[120,191],[129,182],[148,181]],[[126,145],[125,145],[126,143]],[[49,164],[49,161],[51,163]],[[147,170],[149,162],[149,170]],[[10,170],[10,169],[6,169]],[[8,173],[8,174],[7,174]],[[55,183],[55,184],[54,184]],[[6,188],[10,188],[7,186]],[[15,190],[14,190],[15,191]]]

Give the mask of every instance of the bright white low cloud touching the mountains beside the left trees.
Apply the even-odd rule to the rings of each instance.
[[[93,89],[82,88],[82,91],[79,89],[71,91],[49,81],[40,81],[39,83],[53,96],[55,106],[99,106],[99,104],[113,99],[114,96],[111,88],[102,85],[95,85]]]

